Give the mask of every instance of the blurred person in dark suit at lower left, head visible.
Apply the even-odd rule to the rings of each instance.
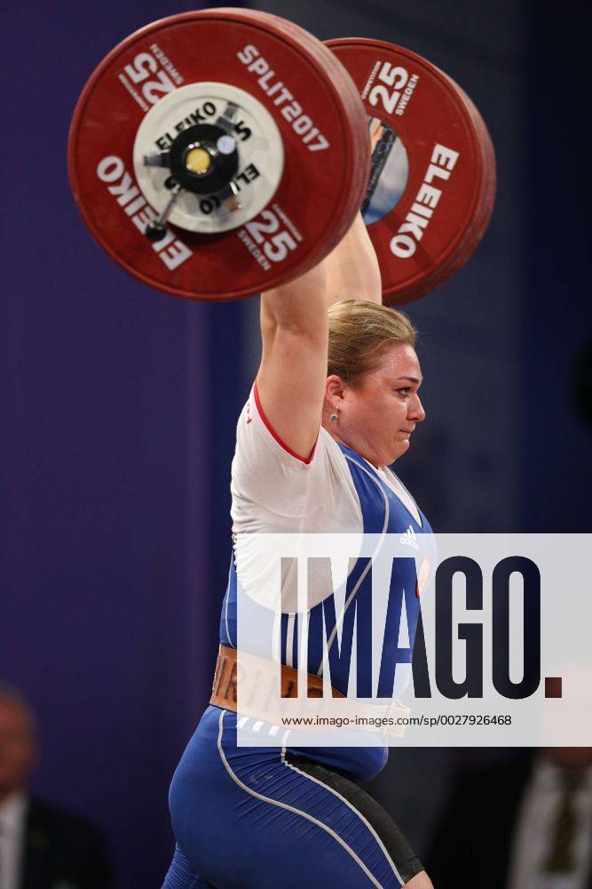
[[[35,717],[0,685],[0,889],[110,889],[99,829],[28,794],[37,760]]]

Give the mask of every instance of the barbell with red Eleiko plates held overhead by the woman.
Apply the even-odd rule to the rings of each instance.
[[[195,300],[304,274],[360,209],[384,300],[413,300],[469,259],[495,194],[485,123],[430,62],[243,9],[174,15],[116,46],[77,102],[68,169],[112,259]]]

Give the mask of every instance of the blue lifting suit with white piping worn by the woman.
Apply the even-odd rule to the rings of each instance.
[[[367,461],[339,447],[359,497],[365,533],[431,533],[422,513],[418,522]],[[348,589],[357,583],[355,595],[361,598],[370,595],[371,577],[362,576],[359,562]],[[232,564],[220,621],[220,642],[230,647],[237,645],[237,595],[240,584]],[[393,605],[395,612],[400,613],[405,599],[412,650],[420,610],[414,570],[393,572],[389,595],[389,609]],[[315,633],[320,638],[323,607],[326,621],[330,613],[326,605],[321,602],[310,611],[312,638]],[[283,657],[288,632],[296,632],[288,615],[282,615],[281,630]],[[408,666],[411,653],[400,656],[398,634],[399,621],[392,621],[384,648]],[[309,655],[309,671],[318,666]],[[331,669],[331,682],[340,691],[347,690],[347,679],[339,675],[338,665],[336,673]],[[381,668],[379,695],[391,695],[392,687],[392,671],[383,674]],[[320,889],[395,889],[423,870],[391,816],[357,783],[380,772],[387,748],[238,747],[239,719],[243,731],[270,729],[210,705],[179,762],[170,787],[177,846],[163,889],[301,889],[312,882]]]

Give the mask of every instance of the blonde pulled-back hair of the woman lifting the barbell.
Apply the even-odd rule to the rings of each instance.
[[[417,341],[417,331],[407,315],[375,302],[335,302],[329,307],[328,318],[327,375],[335,373],[349,385],[374,371],[392,343],[414,346]]]

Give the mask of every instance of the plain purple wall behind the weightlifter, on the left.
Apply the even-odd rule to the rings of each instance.
[[[160,885],[170,777],[211,684],[244,394],[217,342],[240,363],[241,306],[107,259],[70,194],[67,128],[114,44],[196,5],[4,7],[0,679],[39,716],[34,789],[106,829],[125,889]]]

